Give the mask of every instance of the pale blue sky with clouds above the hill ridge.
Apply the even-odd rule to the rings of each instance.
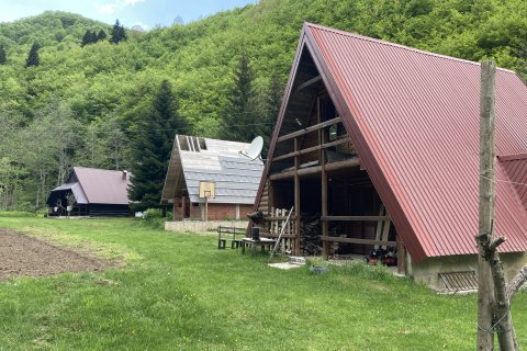
[[[180,16],[184,23],[257,0],[0,0],[0,22],[15,21],[46,10],[67,11],[126,27],[139,24],[148,30],[168,26]]]

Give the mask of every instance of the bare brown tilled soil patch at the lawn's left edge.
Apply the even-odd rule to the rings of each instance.
[[[0,281],[16,275],[100,271],[109,261],[75,252],[23,234],[0,229]]]

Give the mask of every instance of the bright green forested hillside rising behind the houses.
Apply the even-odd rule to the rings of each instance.
[[[130,168],[165,80],[186,132],[270,135],[304,21],[493,58],[527,77],[524,0],[261,0],[187,25],[127,31],[119,44],[111,25],[70,13],[2,23],[0,210],[42,207],[74,165]],[[83,43],[101,30],[105,39]]]

